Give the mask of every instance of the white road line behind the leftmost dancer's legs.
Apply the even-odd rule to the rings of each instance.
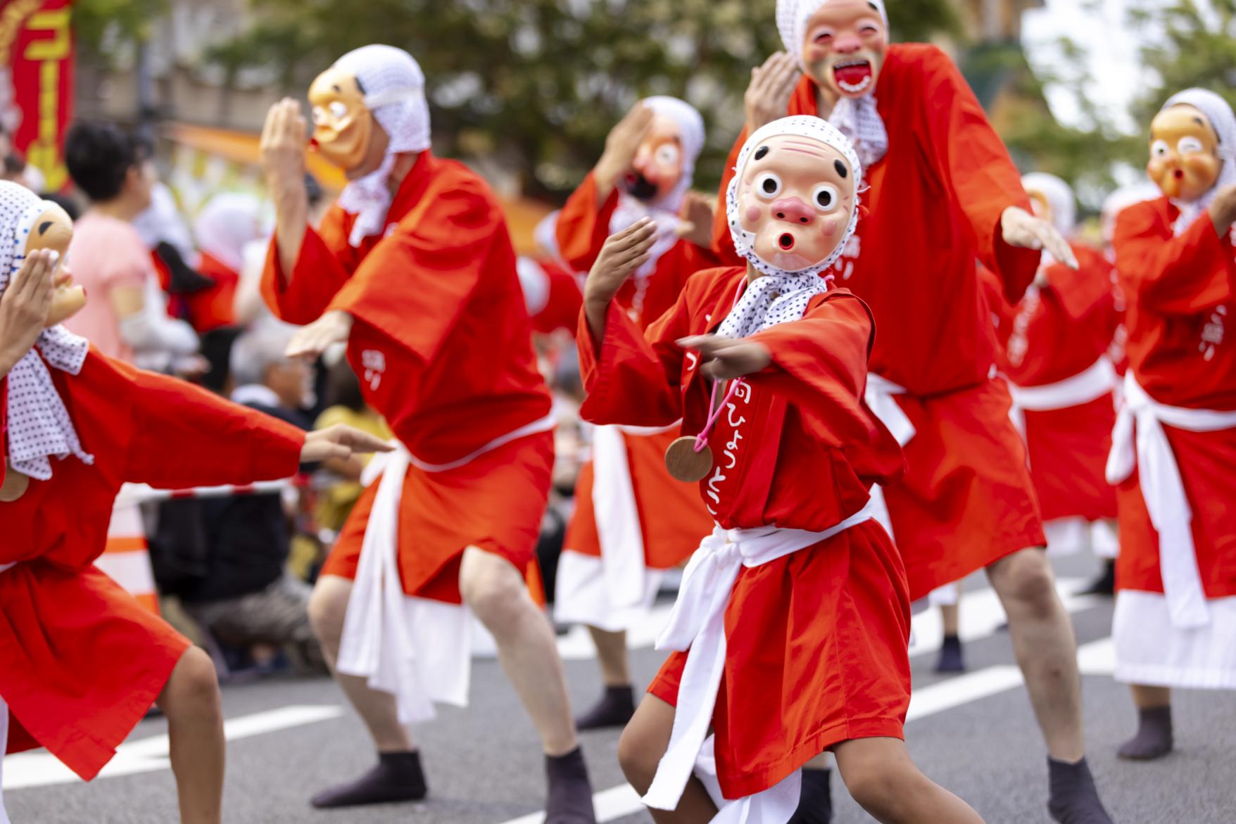
[[[224,738],[229,741],[276,733],[304,724],[315,724],[344,714],[336,704],[294,704],[224,721]],[[167,735],[127,741],[116,747],[115,757],[99,772],[99,778],[131,776],[138,772],[171,770]],[[80,781],[73,771],[48,752],[22,752],[4,760],[4,788],[47,787]]]

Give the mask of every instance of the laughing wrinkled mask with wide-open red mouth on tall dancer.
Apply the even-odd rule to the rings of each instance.
[[[812,0],[801,1],[810,9]],[[889,46],[883,10],[869,0],[826,0],[806,20],[802,67],[818,86],[837,98],[861,98],[875,90]]]

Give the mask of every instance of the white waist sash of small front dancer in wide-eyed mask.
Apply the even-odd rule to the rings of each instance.
[[[758,567],[838,535],[874,516],[871,503],[822,532],[760,526],[723,530],[706,536],[682,574],[677,600],[656,639],[658,650],[690,650],[679,686],[670,745],[658,765],[644,803],[674,809],[696,765],[712,724],[717,689],[726,667],[726,607],[743,567]],[[798,804],[798,771],[769,789],[738,799],[714,823],[785,824]],[[789,783],[787,783],[789,782]],[[759,810],[758,818],[751,818]],[[782,815],[784,813],[784,815]]]

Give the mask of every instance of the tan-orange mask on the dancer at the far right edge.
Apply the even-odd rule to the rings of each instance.
[[[1151,159],[1146,170],[1164,195],[1192,203],[1214,188],[1222,170],[1219,136],[1200,110],[1164,109],[1151,121]]]

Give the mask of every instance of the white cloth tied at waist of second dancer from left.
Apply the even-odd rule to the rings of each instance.
[[[336,668],[365,678],[372,689],[393,694],[400,723],[434,718],[434,703],[467,705],[472,649],[472,618],[466,607],[403,592],[399,510],[408,467],[425,472],[459,468],[498,446],[552,426],[554,416],[549,415],[438,467],[418,461],[396,441],[393,452],[376,455],[365,468],[361,481],[370,484],[379,478],[378,490],[365,525]]]

